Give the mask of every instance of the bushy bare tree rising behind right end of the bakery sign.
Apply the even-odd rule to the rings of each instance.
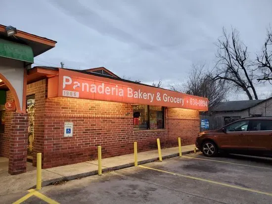
[[[183,84],[170,85],[170,89],[186,94],[206,97],[209,106],[216,106],[227,99],[227,84],[224,80],[213,80],[213,74],[208,71],[205,64],[193,64],[188,80]]]

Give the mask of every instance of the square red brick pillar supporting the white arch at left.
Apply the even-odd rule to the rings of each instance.
[[[26,113],[12,113],[8,173],[11,175],[26,172],[28,143],[28,115]]]

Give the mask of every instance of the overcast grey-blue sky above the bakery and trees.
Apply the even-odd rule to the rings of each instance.
[[[0,0],[0,7],[0,24],[58,42],[36,64],[104,66],[147,84],[161,79],[165,88],[186,80],[192,63],[214,66],[223,26],[238,29],[254,54],[272,21],[272,0]],[[260,97],[269,89],[259,86]]]

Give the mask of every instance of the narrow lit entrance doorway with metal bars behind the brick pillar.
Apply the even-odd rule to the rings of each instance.
[[[35,95],[27,96],[26,112],[28,113],[28,145],[27,154],[32,156],[34,143],[34,116],[35,116]]]

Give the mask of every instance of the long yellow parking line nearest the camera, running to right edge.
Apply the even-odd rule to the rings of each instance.
[[[225,184],[225,183],[221,183],[221,182],[217,182],[217,181],[212,181],[212,180],[207,180],[207,179],[202,179],[202,178],[198,178],[198,177],[187,176],[187,175],[174,173],[174,172],[170,172],[170,171],[164,171],[164,170],[160,170],[160,169],[155,169],[155,168],[151,168],[151,167],[147,167],[147,166],[142,166],[142,165],[138,165],[138,166],[141,167],[141,168],[146,168],[146,169],[150,169],[150,170],[154,170],[154,171],[168,173],[168,174],[172,174],[172,175],[175,175],[175,176],[181,176],[181,177],[184,177],[184,178],[194,179],[194,180],[198,180],[198,181],[204,181],[204,182],[213,183],[213,184],[217,184],[217,185],[221,185],[221,186],[227,186],[227,187],[230,187],[230,188],[240,189],[240,190],[243,190],[243,191],[249,191],[249,192],[253,192],[253,193],[272,196],[272,193],[267,193],[267,192],[257,191],[257,190],[253,190],[253,189],[249,189],[249,188],[243,188],[243,187],[239,187],[239,186],[229,185],[229,184]]]

